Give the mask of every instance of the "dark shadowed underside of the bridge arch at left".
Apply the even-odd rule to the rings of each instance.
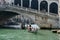
[[[2,25],[6,20],[16,15],[19,15],[19,14],[11,11],[0,11],[0,25]]]

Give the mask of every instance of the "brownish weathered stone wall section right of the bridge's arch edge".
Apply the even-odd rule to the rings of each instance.
[[[58,21],[55,19],[50,19],[48,17],[36,17],[36,23],[40,27],[52,27],[57,28],[58,27]]]

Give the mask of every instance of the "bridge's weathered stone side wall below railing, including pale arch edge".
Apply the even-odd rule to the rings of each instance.
[[[38,24],[40,27],[46,27],[46,28],[57,28],[58,27],[58,20],[57,19],[51,19],[48,16],[40,16],[35,14],[23,14],[24,18],[32,19],[36,24]]]

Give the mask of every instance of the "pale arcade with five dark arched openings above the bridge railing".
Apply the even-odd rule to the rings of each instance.
[[[14,0],[14,4],[39,11],[58,14],[58,0]]]

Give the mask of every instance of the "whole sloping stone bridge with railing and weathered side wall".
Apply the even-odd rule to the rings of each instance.
[[[56,27],[58,26],[58,20],[59,20],[58,14],[41,12],[31,8],[25,8],[25,7],[15,6],[15,5],[13,6],[0,5],[0,11],[10,11],[10,12],[18,13],[20,15],[27,16],[31,18],[39,26],[40,25],[50,26],[50,24]]]

